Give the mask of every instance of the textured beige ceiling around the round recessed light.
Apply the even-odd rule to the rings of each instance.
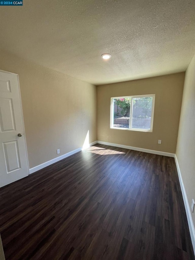
[[[195,54],[194,0],[23,0],[0,18],[2,49],[95,85],[185,71]]]

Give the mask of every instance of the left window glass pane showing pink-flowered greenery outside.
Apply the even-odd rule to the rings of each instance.
[[[113,127],[128,128],[131,98],[113,98]]]

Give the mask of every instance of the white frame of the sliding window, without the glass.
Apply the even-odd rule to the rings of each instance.
[[[133,98],[149,98],[152,97],[152,113],[151,113],[151,128],[150,129],[141,129],[141,128],[131,128],[132,122],[132,99]],[[130,117],[129,117],[129,128],[122,128],[122,127],[114,127],[114,105],[113,99],[115,98],[131,98],[131,105],[130,105]],[[139,96],[125,96],[125,97],[115,97],[111,98],[111,109],[110,109],[110,128],[118,129],[118,130],[130,130],[130,131],[140,131],[140,132],[152,132],[153,130],[153,121],[154,121],[154,103],[155,103],[155,94],[151,95],[139,95]]]

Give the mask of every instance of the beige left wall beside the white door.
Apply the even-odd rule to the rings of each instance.
[[[0,69],[19,74],[30,168],[97,140],[94,85],[4,51]]]

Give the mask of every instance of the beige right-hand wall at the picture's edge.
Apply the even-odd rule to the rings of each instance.
[[[191,211],[195,201],[195,56],[186,71],[176,156]],[[191,214],[195,227],[195,211]]]

